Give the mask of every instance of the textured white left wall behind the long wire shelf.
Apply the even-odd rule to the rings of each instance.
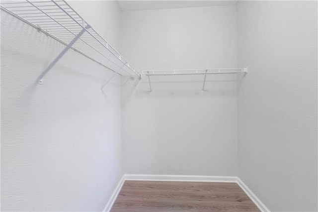
[[[97,4],[114,17],[89,22],[119,47],[116,2]],[[1,211],[102,211],[123,174],[120,87],[100,91],[112,72],[69,51],[37,84],[63,48],[1,12]]]

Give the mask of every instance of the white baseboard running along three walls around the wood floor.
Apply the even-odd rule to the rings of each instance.
[[[266,206],[250,191],[250,189],[238,178],[232,176],[198,176],[198,175],[123,175],[111,195],[103,212],[109,212],[113,206],[124,182],[126,180],[135,181],[177,181],[177,182],[215,182],[215,183],[237,183],[246,195],[253,201],[261,212],[270,212]]]

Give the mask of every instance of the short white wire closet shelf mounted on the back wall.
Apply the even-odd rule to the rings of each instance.
[[[152,92],[151,76],[203,75],[202,91],[204,91],[206,77],[211,74],[243,74],[245,76],[247,74],[247,68],[143,71],[143,75],[148,76],[150,92]]]

